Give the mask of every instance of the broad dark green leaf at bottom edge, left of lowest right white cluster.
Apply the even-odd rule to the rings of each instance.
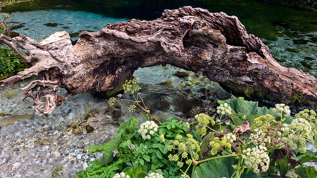
[[[198,178],[230,178],[235,172],[232,165],[236,165],[238,161],[234,157],[226,157],[202,163],[196,168]],[[258,176],[250,171],[248,174],[243,173],[240,178],[258,178]]]

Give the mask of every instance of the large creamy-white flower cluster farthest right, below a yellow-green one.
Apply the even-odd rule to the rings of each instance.
[[[292,149],[299,148],[300,153],[305,153],[307,141],[313,142],[314,132],[308,121],[302,118],[294,119],[291,124],[283,124],[285,143]]]

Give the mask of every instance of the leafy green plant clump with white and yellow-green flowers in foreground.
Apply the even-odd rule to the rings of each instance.
[[[130,101],[144,103],[138,101],[136,83],[127,81],[124,87],[137,93]],[[110,141],[89,148],[90,154],[104,151],[104,156],[76,178],[112,178],[121,173],[129,178],[148,178],[152,173],[164,178],[281,178],[289,171],[305,175],[311,168],[296,166],[317,161],[305,146],[317,133],[314,111],[305,110],[294,118],[284,104],[268,109],[244,98],[218,102],[219,117],[202,113],[192,123],[169,117],[139,128],[137,120],[125,121]],[[231,124],[222,118],[231,119]]]

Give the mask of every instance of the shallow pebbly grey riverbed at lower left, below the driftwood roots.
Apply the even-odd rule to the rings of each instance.
[[[69,98],[49,118],[38,117],[32,99],[18,101],[25,85],[0,89],[0,178],[49,178],[60,167],[73,178],[102,156],[89,155],[89,145],[111,139],[129,117],[87,93]]]

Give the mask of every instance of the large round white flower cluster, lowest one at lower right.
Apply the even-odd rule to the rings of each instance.
[[[252,168],[255,173],[266,172],[269,165],[269,157],[265,152],[265,146],[256,146],[243,150],[242,158],[248,168]]]

